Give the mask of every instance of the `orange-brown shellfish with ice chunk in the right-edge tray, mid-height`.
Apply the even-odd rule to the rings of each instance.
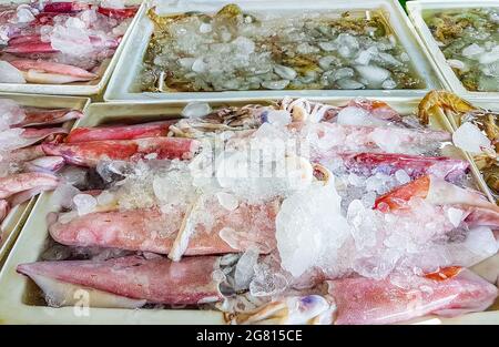
[[[472,156],[483,174],[488,187],[497,197],[499,194],[499,126],[497,120],[499,113],[475,106],[452,93],[442,91],[429,93],[424,103],[421,121],[427,121],[425,114],[431,108],[440,108],[446,113],[456,127],[452,135],[454,144]]]

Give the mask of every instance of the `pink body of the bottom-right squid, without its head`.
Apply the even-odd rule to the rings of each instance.
[[[393,324],[428,314],[452,317],[485,310],[498,296],[495,285],[467,269],[399,280],[403,284],[390,278],[328,280],[335,324]]]

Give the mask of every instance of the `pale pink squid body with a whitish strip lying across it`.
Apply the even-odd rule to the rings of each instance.
[[[214,217],[205,223],[205,211]],[[216,201],[176,206],[169,211],[138,208],[94,212],[65,218],[48,216],[49,233],[57,242],[72,246],[101,246],[129,251],[182,255],[207,255],[244,252],[257,247],[261,253],[275,248],[275,217],[278,203],[249,205],[242,203],[227,211]],[[201,220],[200,220],[201,218]]]

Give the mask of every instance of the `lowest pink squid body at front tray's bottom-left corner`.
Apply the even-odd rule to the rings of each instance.
[[[213,273],[220,259],[190,257],[175,263],[140,256],[109,261],[39,262],[21,264],[17,271],[34,282],[44,277],[95,288],[153,304],[203,304],[221,300]]]

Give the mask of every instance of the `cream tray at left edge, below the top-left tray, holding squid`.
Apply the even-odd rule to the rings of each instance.
[[[47,96],[47,95],[27,95],[27,94],[10,94],[0,93],[0,99],[11,99],[24,106],[37,106],[47,109],[68,108],[82,111],[90,100],[86,98],[71,98],[71,96]],[[8,216],[0,225],[3,239],[0,241],[0,268],[4,257],[12,247],[13,242],[18,237],[26,218],[34,205],[37,197],[29,202],[13,207]]]

